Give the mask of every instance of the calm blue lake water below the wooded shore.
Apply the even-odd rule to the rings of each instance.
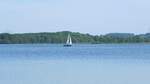
[[[0,45],[0,84],[150,84],[150,44]]]

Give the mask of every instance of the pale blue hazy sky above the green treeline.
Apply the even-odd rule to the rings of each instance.
[[[149,0],[0,0],[0,32],[150,32]]]

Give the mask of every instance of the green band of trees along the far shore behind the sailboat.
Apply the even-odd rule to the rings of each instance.
[[[68,34],[71,34],[73,43],[150,43],[150,33],[135,35],[132,33],[109,33],[106,35],[90,35],[78,32],[54,33],[23,33],[0,34],[0,44],[26,44],[26,43],[65,43]]]

